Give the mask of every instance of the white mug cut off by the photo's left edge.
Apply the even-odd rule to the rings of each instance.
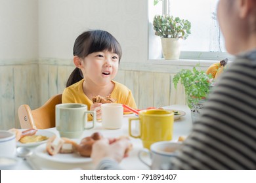
[[[0,130],[0,157],[14,157],[16,154],[16,135],[11,131]]]

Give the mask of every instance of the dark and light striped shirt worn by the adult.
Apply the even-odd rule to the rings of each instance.
[[[119,169],[113,160],[98,169]],[[220,76],[170,169],[256,169],[256,50]]]

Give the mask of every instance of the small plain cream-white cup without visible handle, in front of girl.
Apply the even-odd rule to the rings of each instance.
[[[123,106],[119,103],[104,103],[101,105],[102,127],[119,129],[123,125]]]

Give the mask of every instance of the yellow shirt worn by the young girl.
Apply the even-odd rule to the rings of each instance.
[[[72,86],[69,86],[68,88],[65,88],[64,92],[62,93],[62,103],[83,103],[87,105],[89,110],[93,104],[93,101],[91,101],[87,95],[83,93],[83,82],[84,79],[72,84]],[[125,104],[131,108],[137,108],[131,90],[119,82],[113,80],[112,82],[115,84],[114,90],[112,93],[110,93],[112,99],[116,99],[116,103]],[[88,120],[93,120],[91,115],[88,115]]]

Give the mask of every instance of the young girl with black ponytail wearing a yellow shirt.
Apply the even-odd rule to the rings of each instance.
[[[97,119],[101,118],[101,103],[92,101],[97,95],[111,95],[116,103],[137,108],[131,90],[113,80],[121,59],[121,46],[110,33],[85,31],[75,40],[73,51],[76,68],[68,78],[62,103],[83,103],[96,110]],[[88,120],[92,120],[91,115]]]

